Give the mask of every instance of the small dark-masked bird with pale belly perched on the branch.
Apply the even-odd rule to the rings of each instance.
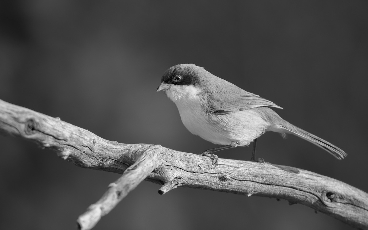
[[[170,67],[161,78],[159,91],[164,91],[176,104],[181,121],[192,134],[222,145],[201,153],[209,156],[213,164],[217,162],[213,152],[248,146],[252,141],[252,160],[255,161],[256,140],[267,131],[279,132],[283,137],[294,134],[325,149],[337,159],[347,156],[342,149],[290,124],[270,109],[282,107],[195,64]]]

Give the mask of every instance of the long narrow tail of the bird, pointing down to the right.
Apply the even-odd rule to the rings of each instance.
[[[276,132],[285,132],[285,133],[290,133],[290,134],[294,134],[298,137],[301,137],[309,142],[311,142],[312,144],[315,144],[319,147],[321,147],[322,149],[325,149],[327,152],[331,153],[333,156],[335,156],[337,159],[341,160],[344,159],[344,157],[347,156],[347,154],[340,148],[336,147],[335,145],[331,144],[330,142],[327,142],[325,140],[323,140],[322,138],[317,137],[316,135],[311,134],[310,132],[307,132],[305,130],[302,130],[301,128],[296,127],[293,124],[290,124],[289,122],[283,120],[284,122],[282,122],[280,124],[280,126],[278,127],[278,130],[272,130],[272,131],[276,131]]]

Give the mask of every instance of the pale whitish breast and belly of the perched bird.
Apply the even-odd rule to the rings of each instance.
[[[229,114],[214,114],[204,111],[195,103],[176,103],[181,121],[195,135],[219,145],[240,141],[248,145],[265,132],[266,122],[255,112],[244,110]]]

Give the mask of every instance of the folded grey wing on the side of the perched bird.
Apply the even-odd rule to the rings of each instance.
[[[235,85],[234,85],[235,86]],[[254,93],[247,92],[241,88],[232,87],[232,91],[217,91],[209,96],[210,110],[218,114],[234,113],[241,110],[268,106],[282,109],[275,103],[261,98]]]

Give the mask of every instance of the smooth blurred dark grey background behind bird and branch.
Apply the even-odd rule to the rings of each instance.
[[[368,192],[367,1],[0,2],[0,99],[123,143],[199,153],[163,72],[195,63],[282,106],[285,120],[348,153],[266,133],[258,156]],[[75,229],[119,175],[0,137],[0,229]],[[219,152],[248,160],[251,148]],[[351,229],[287,201],[142,182],[98,229]]]

